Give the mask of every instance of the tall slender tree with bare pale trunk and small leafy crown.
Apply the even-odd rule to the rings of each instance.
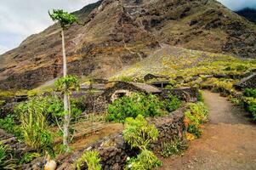
[[[61,37],[62,37],[62,52],[63,52],[63,77],[65,78],[67,75],[67,68],[66,68],[66,56],[65,56],[65,38],[64,38],[64,31],[69,28],[72,24],[77,22],[77,17],[73,14],[69,14],[62,9],[53,9],[52,13],[48,11],[49,16],[54,21],[59,21],[61,26]],[[68,79],[62,79],[61,82],[64,82],[63,88],[68,91],[68,85],[65,84],[68,82]],[[60,87],[59,87],[60,88]],[[65,91],[66,92],[66,91]],[[64,111],[65,111],[65,121],[63,127],[63,144],[65,145],[66,151],[69,150],[68,147],[68,134],[69,134],[69,122],[70,122],[70,105],[68,94],[64,93]]]

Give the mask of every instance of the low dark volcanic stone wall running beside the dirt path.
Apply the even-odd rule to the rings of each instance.
[[[159,138],[151,144],[151,148],[155,151],[160,150],[160,145],[164,141],[170,141],[174,138],[185,140],[184,108],[174,111],[168,116],[151,118],[148,121],[154,123],[159,130]],[[85,149],[77,150],[71,155],[61,156],[58,159],[58,170],[71,169],[71,163],[85,150],[99,150],[101,164],[104,170],[120,170],[125,166],[126,160],[131,156],[138,154],[139,150],[131,150],[122,138],[122,133],[112,135],[111,137],[100,140],[95,144],[87,146]],[[61,162],[61,163],[60,163]],[[87,167],[82,167],[87,169]]]

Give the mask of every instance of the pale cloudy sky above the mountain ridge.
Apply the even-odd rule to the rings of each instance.
[[[98,0],[1,0],[0,54],[16,48],[31,34],[53,24],[48,9],[63,8],[73,12]],[[232,10],[256,8],[256,0],[219,0]]]

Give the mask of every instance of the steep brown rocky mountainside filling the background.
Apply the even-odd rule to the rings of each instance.
[[[110,77],[169,44],[256,58],[256,26],[215,0],[103,0],[75,12],[65,32],[68,70]],[[35,88],[61,75],[60,26],[0,56],[0,88]]]

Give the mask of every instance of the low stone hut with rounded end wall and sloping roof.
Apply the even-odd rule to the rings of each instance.
[[[161,94],[162,90],[153,87],[149,84],[140,82],[108,82],[106,84],[106,90],[102,94],[108,102],[120,98],[122,96],[128,96],[133,93],[145,93],[145,94]]]

